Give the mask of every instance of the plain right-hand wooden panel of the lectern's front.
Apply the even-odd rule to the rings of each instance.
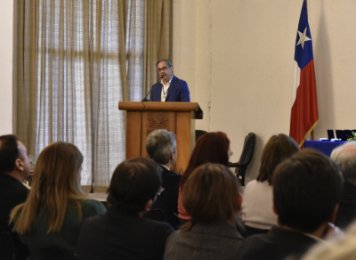
[[[190,159],[190,112],[178,112],[176,114],[176,135],[178,158],[175,172],[183,174]]]

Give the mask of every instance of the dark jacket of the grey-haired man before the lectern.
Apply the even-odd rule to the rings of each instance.
[[[174,228],[177,228],[178,218],[174,215],[174,213],[178,215],[178,193],[182,175],[178,175],[173,171],[168,171],[166,167],[162,167],[162,170],[162,187],[165,191],[162,191],[162,193],[157,197],[151,208],[162,208],[166,213],[169,223]]]

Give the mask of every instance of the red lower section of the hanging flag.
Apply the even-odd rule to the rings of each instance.
[[[318,119],[317,87],[315,84],[314,60],[312,60],[301,71],[300,85],[296,91],[295,103],[290,117],[289,136],[302,147],[306,135],[312,131]]]

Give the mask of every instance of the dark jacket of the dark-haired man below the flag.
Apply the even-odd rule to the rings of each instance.
[[[254,235],[245,240],[236,259],[283,260],[287,256],[302,256],[317,240],[302,232],[272,227],[266,235]],[[299,257],[295,257],[297,259]]]

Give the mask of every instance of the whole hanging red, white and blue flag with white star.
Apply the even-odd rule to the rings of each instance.
[[[306,136],[317,126],[318,120],[312,35],[304,0],[295,40],[295,79],[289,136],[303,147]]]

